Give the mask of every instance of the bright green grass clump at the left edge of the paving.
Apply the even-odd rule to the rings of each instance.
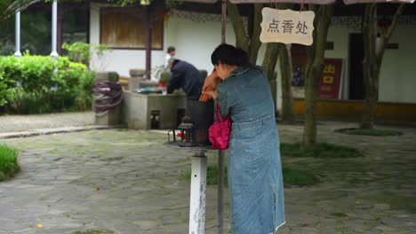
[[[5,144],[0,144],[0,181],[9,179],[19,171],[18,154],[17,150]]]

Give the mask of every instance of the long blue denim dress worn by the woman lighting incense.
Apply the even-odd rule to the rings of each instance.
[[[284,186],[273,99],[260,67],[238,67],[217,88],[233,121],[228,154],[233,234],[274,233],[284,224]]]

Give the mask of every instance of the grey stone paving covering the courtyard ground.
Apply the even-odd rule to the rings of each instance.
[[[403,136],[349,136],[324,122],[319,140],[356,146],[356,159],[285,158],[284,167],[322,183],[285,188],[286,224],[277,233],[416,233],[416,129]],[[282,125],[284,142],[301,126]],[[91,130],[4,139],[20,149],[21,172],[0,183],[0,234],[188,233],[191,152],[154,131]],[[216,152],[208,152],[210,163]],[[228,194],[225,194],[229,233]],[[216,231],[216,187],[207,189],[205,233]],[[39,225],[39,226],[38,226]]]

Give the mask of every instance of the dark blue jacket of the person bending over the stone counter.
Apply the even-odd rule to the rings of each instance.
[[[182,88],[188,100],[198,100],[202,93],[204,78],[192,64],[176,59],[171,68],[171,80],[167,85],[167,92]]]

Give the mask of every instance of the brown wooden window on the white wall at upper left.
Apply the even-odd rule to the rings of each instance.
[[[164,17],[152,12],[152,49],[163,50]],[[146,12],[143,8],[101,8],[100,43],[116,49],[146,47]]]

